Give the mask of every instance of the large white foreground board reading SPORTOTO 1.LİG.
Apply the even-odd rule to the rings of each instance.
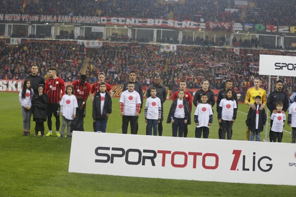
[[[296,185],[296,146],[74,131],[69,172]]]

